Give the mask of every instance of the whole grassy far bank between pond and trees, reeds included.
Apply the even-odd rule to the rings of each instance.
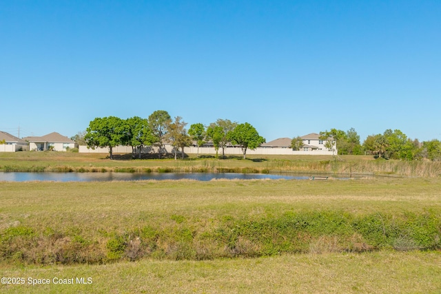
[[[44,152],[42,152],[44,153]],[[29,155],[30,154],[30,155]],[[366,174],[436,178],[441,176],[441,162],[422,160],[367,160],[365,156],[333,159],[331,156],[274,156],[242,160],[229,158],[190,158],[187,160],[106,160],[96,154],[40,154],[6,158],[0,155],[0,171],[57,172],[300,172],[325,174]],[[44,154],[43,154],[44,155]],[[75,157],[77,156],[77,157]]]

